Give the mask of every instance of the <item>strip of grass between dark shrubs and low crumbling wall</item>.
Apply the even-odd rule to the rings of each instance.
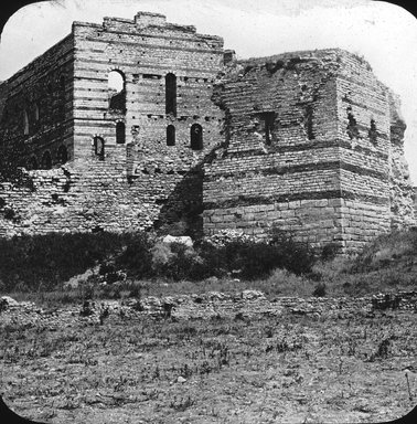
[[[131,280],[107,286],[85,284],[79,287],[36,292],[3,292],[17,300],[34,301],[40,306],[53,307],[79,303],[85,298],[124,299],[146,296],[177,296],[207,292],[261,290],[269,300],[279,296],[310,297],[320,286],[322,296],[357,297],[377,293],[396,293],[417,289],[417,256],[400,257],[389,263],[375,264],[362,271],[352,271],[356,264],[349,258],[318,262],[309,276],[298,276],[286,269],[276,269],[265,279],[240,280],[238,278],[207,278],[202,282],[189,280]]]

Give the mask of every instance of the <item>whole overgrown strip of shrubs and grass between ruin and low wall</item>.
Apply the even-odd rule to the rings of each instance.
[[[52,234],[0,242],[0,294],[10,294],[19,299],[36,303],[71,303],[86,297],[172,296],[243,289],[261,290],[269,299],[277,296],[308,297],[312,294],[362,296],[377,292],[416,289],[417,280],[417,231],[398,231],[382,235],[359,256],[332,259],[327,257],[325,261],[320,258],[320,254],[317,254],[314,261],[310,261],[311,256],[307,254],[309,251],[301,250],[300,253],[293,244],[285,245],[282,252],[287,258],[284,263],[291,265],[289,269],[295,268],[298,254],[301,254],[299,259],[303,263],[303,269],[306,268],[303,273],[293,269],[274,271],[276,265],[269,259],[275,256],[268,246],[260,246],[259,250],[259,246],[255,248],[254,245],[248,245],[252,250],[245,251],[240,245],[236,257],[233,248],[209,255],[211,258],[207,256],[206,259],[211,266],[209,269],[207,266],[200,269],[200,276],[205,277],[194,279],[192,273],[188,275],[188,271],[203,261],[202,252],[171,252],[170,247],[160,243],[152,245],[146,234],[141,233]],[[124,245],[127,248],[124,250]],[[277,252],[280,252],[279,248]],[[331,250],[328,252],[331,253]],[[234,259],[228,264],[222,263],[224,253]],[[258,277],[245,280],[239,274],[243,272],[239,267],[246,263],[247,255],[255,253],[259,261],[265,259],[263,254],[271,255],[266,261],[268,269],[271,271],[261,273],[257,269],[259,266],[256,267],[256,264],[252,263]],[[226,269],[223,269],[223,266],[226,266]],[[106,269],[109,272],[106,273]],[[117,282],[120,273],[127,276],[127,280]],[[216,278],[213,275],[223,277]],[[179,276],[181,278],[178,278]],[[103,286],[103,280],[109,284]],[[64,289],[68,282],[73,286],[78,285],[78,288]]]

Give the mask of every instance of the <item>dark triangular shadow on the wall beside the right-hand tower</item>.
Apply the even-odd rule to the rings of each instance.
[[[189,235],[193,240],[203,236],[203,179],[204,165],[216,157],[217,146],[204,156],[175,186],[159,212],[153,227],[161,235]]]

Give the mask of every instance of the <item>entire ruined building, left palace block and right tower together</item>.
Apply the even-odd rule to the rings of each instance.
[[[414,224],[398,99],[339,49],[237,61],[161,14],[74,22],[0,116],[31,181],[1,184],[3,236],[276,225],[351,251]]]

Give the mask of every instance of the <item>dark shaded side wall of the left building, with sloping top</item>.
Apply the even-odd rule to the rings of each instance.
[[[58,163],[61,146],[73,158],[73,74],[70,34],[1,84],[0,146],[20,144],[22,165],[32,167],[34,160],[40,167],[46,151],[52,165]]]

